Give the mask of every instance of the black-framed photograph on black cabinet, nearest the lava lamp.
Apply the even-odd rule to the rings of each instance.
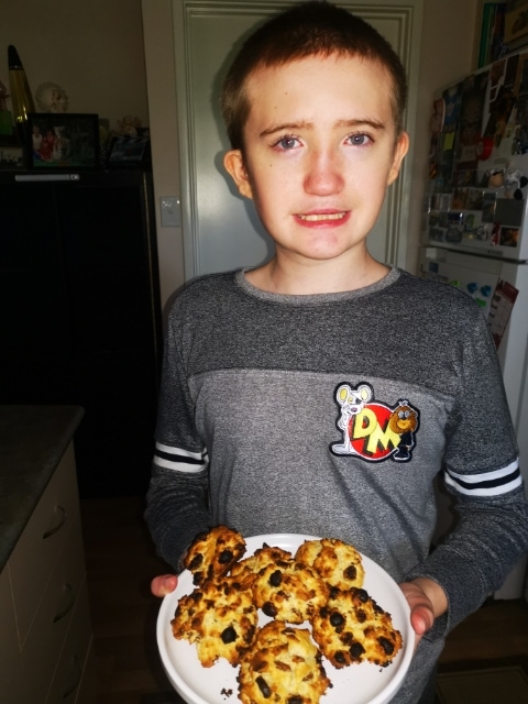
[[[88,113],[34,112],[28,116],[30,168],[99,167],[99,118]]]

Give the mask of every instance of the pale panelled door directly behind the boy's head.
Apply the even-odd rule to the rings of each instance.
[[[222,155],[230,145],[219,92],[230,59],[245,36],[290,4],[290,0],[173,0],[186,279],[255,266],[273,252],[252,201],[239,196],[224,174]],[[402,57],[410,88],[406,129],[413,133],[422,0],[339,4],[373,24]],[[369,235],[373,256],[399,266],[405,266],[407,245],[410,158],[409,154]]]

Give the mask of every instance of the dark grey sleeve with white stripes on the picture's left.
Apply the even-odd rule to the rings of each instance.
[[[194,421],[194,402],[185,365],[185,304],[170,310],[164,348],[152,475],[145,519],[158,554],[172,568],[194,538],[208,530],[208,454]]]

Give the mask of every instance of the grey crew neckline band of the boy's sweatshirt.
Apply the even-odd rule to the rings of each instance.
[[[248,294],[249,296],[253,296],[254,298],[260,298],[261,300],[267,300],[277,304],[289,304],[295,306],[332,304],[343,300],[350,300],[353,298],[363,298],[364,296],[371,296],[372,294],[377,294],[388,286],[392,286],[395,282],[398,280],[402,274],[402,272],[397,267],[391,266],[388,273],[383,278],[375,282],[374,284],[370,284],[369,286],[356,288],[354,290],[343,290],[334,294],[275,294],[262,288],[257,288],[248,280],[248,278],[245,277],[245,273],[250,272],[252,268],[253,267],[251,266],[246,266],[243,268],[239,268],[235,272],[235,283],[245,294]]]

